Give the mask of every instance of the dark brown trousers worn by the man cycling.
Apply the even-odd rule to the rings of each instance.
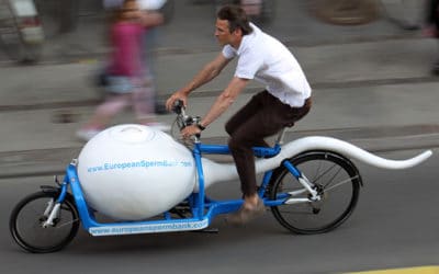
[[[240,109],[226,124],[230,138],[228,147],[239,174],[240,186],[245,196],[257,192],[255,156],[252,147],[267,147],[266,137],[291,127],[305,116],[311,109],[311,99],[302,107],[291,107],[262,91]]]

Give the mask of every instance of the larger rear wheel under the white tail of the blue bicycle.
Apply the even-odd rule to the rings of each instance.
[[[353,163],[331,151],[308,151],[289,161],[316,185],[322,201],[273,206],[271,212],[274,218],[290,231],[300,235],[328,232],[345,222],[357,205],[362,184]],[[326,179],[329,181],[325,182]],[[269,195],[275,199],[282,193],[299,189],[304,187],[282,165],[273,173]],[[306,192],[300,197],[308,195]]]

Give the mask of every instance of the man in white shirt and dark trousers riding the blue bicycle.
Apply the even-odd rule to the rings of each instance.
[[[233,224],[246,222],[264,213],[263,202],[257,195],[255,159],[252,147],[268,146],[264,138],[305,116],[311,109],[312,90],[297,60],[290,50],[274,37],[263,33],[248,21],[244,10],[226,5],[217,13],[215,36],[223,46],[219,53],[185,87],[167,100],[171,110],[175,101],[182,100],[210,82],[238,57],[235,75],[227,88],[217,96],[211,110],[198,125],[183,128],[181,135],[188,138],[200,134],[221,116],[255,79],[266,84],[266,90],[254,95],[227,123],[230,138],[228,146],[239,174],[244,204],[228,216]]]

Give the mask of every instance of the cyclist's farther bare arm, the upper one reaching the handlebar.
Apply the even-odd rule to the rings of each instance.
[[[222,53],[218,54],[215,59],[204,66],[204,68],[199,73],[196,73],[192,81],[190,81],[184,88],[178,90],[167,100],[166,107],[168,110],[171,110],[173,102],[177,100],[182,100],[183,104],[187,105],[188,95],[195,89],[217,77],[229,61],[230,59],[224,57]]]

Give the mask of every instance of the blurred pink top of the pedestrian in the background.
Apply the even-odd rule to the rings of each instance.
[[[146,28],[136,22],[119,22],[112,26],[111,75],[128,77],[142,75],[140,46],[144,32]]]

